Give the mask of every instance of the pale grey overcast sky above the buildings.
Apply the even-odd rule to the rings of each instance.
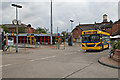
[[[0,24],[10,24],[15,19],[15,8],[12,3],[22,5],[19,9],[19,20],[32,27],[46,27],[50,30],[50,0],[34,0],[14,2],[4,0],[0,3]],[[92,24],[103,21],[103,15],[108,15],[108,21],[118,20],[119,0],[53,0],[53,31],[71,30],[70,19],[74,20],[73,26],[79,24]]]

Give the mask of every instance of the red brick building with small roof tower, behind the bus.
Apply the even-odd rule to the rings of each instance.
[[[110,35],[114,35],[115,33],[120,32],[120,20],[116,21],[116,22],[112,22],[111,20],[108,22],[107,21],[107,15],[103,15],[103,22],[101,23],[94,23],[94,24],[79,24],[77,25],[73,30],[73,38],[76,39],[80,39],[81,35],[82,35],[82,31],[85,30],[104,30],[108,33],[110,33]]]

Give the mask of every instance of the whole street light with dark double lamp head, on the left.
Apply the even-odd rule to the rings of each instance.
[[[16,7],[16,52],[18,52],[18,10],[17,8],[22,8],[22,6],[17,4],[12,4],[11,6]]]

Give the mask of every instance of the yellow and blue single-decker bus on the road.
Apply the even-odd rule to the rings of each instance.
[[[82,31],[82,50],[109,49],[110,34],[100,30]]]

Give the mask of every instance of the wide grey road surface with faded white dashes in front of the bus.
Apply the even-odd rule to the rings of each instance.
[[[22,53],[2,55],[3,78],[118,78],[118,70],[98,63],[107,56],[85,52],[81,47],[23,49]]]

